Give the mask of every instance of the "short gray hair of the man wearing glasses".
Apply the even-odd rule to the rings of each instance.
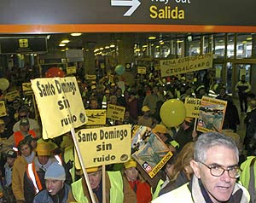
[[[194,159],[195,161],[206,161],[207,150],[215,146],[230,148],[236,152],[237,162],[239,160],[239,151],[236,142],[229,136],[224,136],[218,132],[207,132],[201,134],[195,142]]]

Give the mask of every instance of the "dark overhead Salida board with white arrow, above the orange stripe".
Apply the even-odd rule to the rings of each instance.
[[[256,26],[255,7],[255,0],[4,0],[0,24]]]

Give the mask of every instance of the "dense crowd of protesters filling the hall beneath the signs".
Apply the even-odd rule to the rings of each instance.
[[[148,126],[173,154],[152,179],[135,159],[107,165],[106,174],[102,174],[101,166],[86,168],[96,202],[243,203],[249,202],[250,196],[256,199],[250,178],[256,152],[256,98],[242,76],[236,88],[243,98],[240,101],[246,102],[239,110],[247,113],[240,120],[224,84],[209,80],[207,74],[202,79],[195,75],[189,81],[185,77],[162,79],[160,72],[154,71],[135,78],[132,85],[119,81],[114,73],[97,82],[78,80],[84,109],[104,109],[108,104],[125,107],[124,119],[107,119],[106,126]],[[175,127],[161,122],[160,107],[167,100],[201,99],[209,96],[210,90],[217,99],[228,102],[222,134],[196,131],[196,120],[189,117]],[[2,202],[93,202],[83,172],[73,163],[71,134],[44,140],[40,119],[33,118],[22,100],[15,98],[6,108],[8,115],[0,118]],[[247,128],[244,140],[236,131],[240,122]],[[104,189],[102,177],[106,177]]]

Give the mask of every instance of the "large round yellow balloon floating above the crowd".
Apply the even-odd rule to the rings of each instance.
[[[185,117],[186,108],[180,100],[168,100],[160,108],[160,118],[167,127],[180,125]]]

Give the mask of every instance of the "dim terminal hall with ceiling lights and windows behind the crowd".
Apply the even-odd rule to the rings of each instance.
[[[28,40],[23,47],[22,39]],[[95,76],[98,80],[118,64],[136,75],[137,67],[146,67],[147,73],[160,70],[162,59],[212,52],[212,68],[201,75],[209,73],[211,79],[223,82],[232,95],[241,75],[246,75],[252,85],[256,83],[255,39],[254,33],[214,32],[5,34],[0,36],[0,70],[9,73],[17,67],[44,77],[50,67],[63,71],[76,67],[84,69],[84,77]],[[233,97],[239,107],[236,94]],[[244,129],[241,122],[238,131],[244,134]]]

